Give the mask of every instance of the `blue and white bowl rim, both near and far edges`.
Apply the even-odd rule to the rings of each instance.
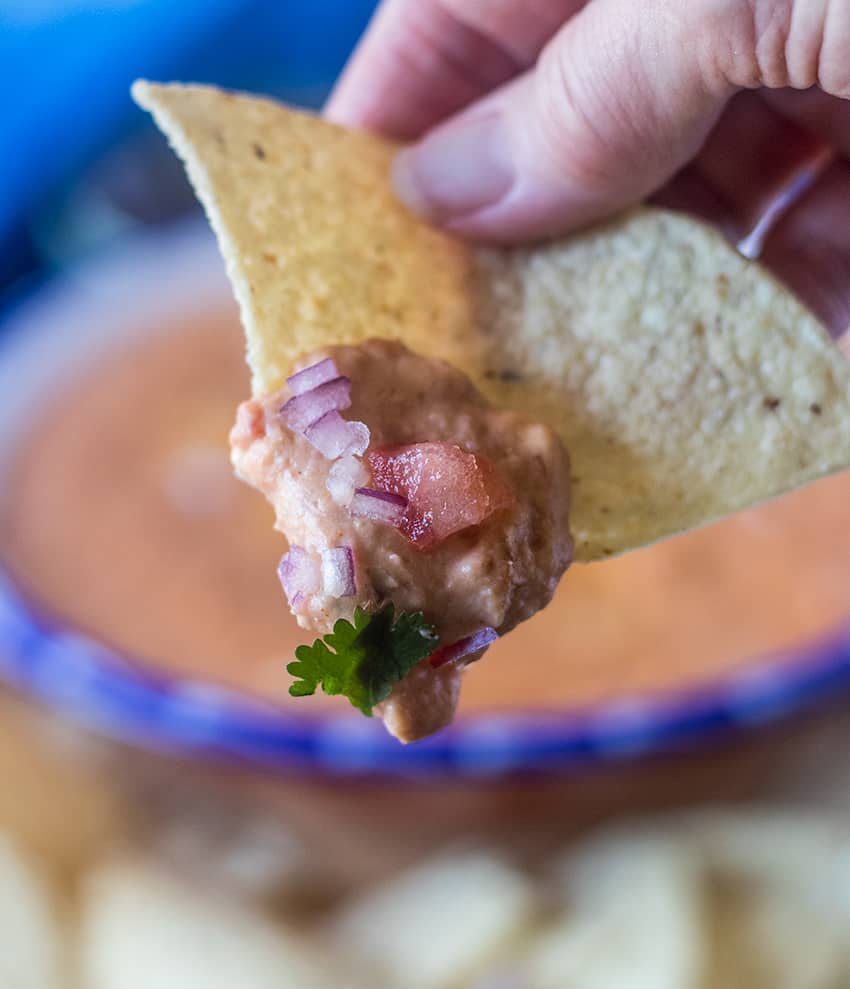
[[[139,278],[155,280],[152,305],[173,315],[198,277],[211,298],[230,300],[214,241],[192,219],[49,282],[0,318],[0,387],[20,379],[33,355],[36,363],[50,356],[57,325],[75,334],[81,360],[101,355],[88,346],[93,313],[114,313]],[[149,327],[150,308],[139,318]],[[49,363],[39,373],[55,373]],[[2,446],[0,428],[0,454]],[[475,712],[402,746],[377,719],[353,711],[293,714],[235,689],[151,671],[49,616],[0,567],[0,679],[99,733],[172,755],[333,777],[494,779],[669,752],[809,707],[850,686],[850,621],[704,683],[587,707]]]

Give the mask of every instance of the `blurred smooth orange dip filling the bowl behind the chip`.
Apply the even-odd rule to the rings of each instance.
[[[153,669],[293,710],[305,632],[275,574],[286,550],[233,477],[248,390],[229,314],[191,323],[33,398],[0,492],[0,557],[43,609]],[[461,714],[678,690],[824,634],[850,612],[850,475],[698,532],[573,566],[552,604],[466,676]],[[309,637],[309,636],[308,636]]]

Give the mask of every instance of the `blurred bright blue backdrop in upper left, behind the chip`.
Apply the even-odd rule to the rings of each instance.
[[[195,208],[134,78],[318,107],[374,0],[0,0],[0,309]]]

